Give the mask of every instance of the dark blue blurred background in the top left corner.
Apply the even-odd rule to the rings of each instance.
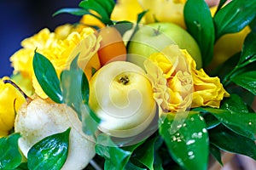
[[[79,21],[70,14],[51,15],[60,8],[78,7],[80,0],[1,0],[0,1],[0,78],[10,76],[9,57],[20,49],[20,42],[48,27]]]

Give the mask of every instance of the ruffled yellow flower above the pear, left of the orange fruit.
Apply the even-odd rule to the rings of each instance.
[[[11,56],[11,61],[15,73],[20,72],[29,77],[36,94],[46,99],[47,95],[44,94],[33,73],[32,58],[35,49],[50,60],[58,76],[61,71],[68,69],[71,60],[80,53],[79,65],[83,66],[85,75],[90,79],[91,69],[97,70],[101,66],[96,54],[100,48],[100,41],[101,37],[96,37],[94,30],[90,27],[78,28],[65,25],[57,27],[55,32],[50,32],[45,28],[33,37],[23,40],[21,42],[23,48]]]

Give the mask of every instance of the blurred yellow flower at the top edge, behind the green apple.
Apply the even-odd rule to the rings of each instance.
[[[145,16],[146,23],[155,21],[172,22],[185,28],[183,8],[186,0],[137,0],[144,10],[148,10]]]

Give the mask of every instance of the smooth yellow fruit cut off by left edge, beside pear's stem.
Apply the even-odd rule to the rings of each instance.
[[[3,83],[9,77],[0,79],[0,137],[8,135],[14,127],[15,111],[26,101],[24,96],[11,84]]]

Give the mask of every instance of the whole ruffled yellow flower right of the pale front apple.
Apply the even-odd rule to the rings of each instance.
[[[220,101],[229,96],[218,77],[209,77],[202,69],[197,71],[195,60],[177,45],[152,54],[144,66],[160,114],[187,111],[189,107],[219,107]]]

